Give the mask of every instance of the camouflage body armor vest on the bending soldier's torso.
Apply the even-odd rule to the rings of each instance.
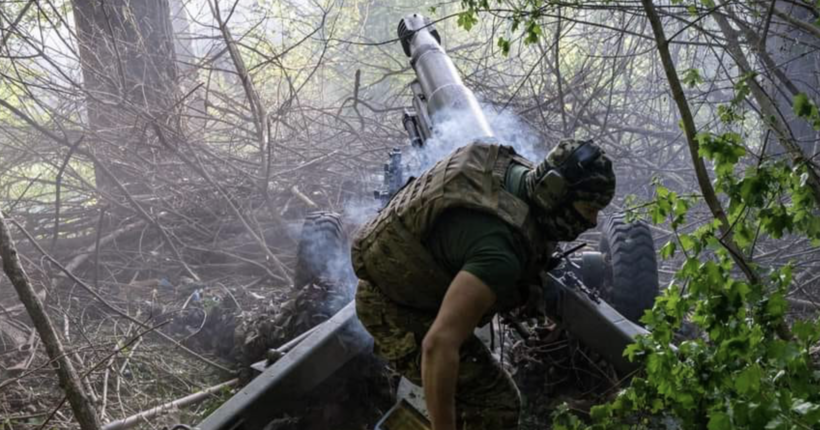
[[[543,239],[527,202],[504,189],[511,163],[532,168],[532,163],[511,147],[473,143],[408,181],[357,233],[352,251],[356,275],[400,305],[437,312],[452,276],[436,263],[423,243],[444,211],[469,208],[495,215],[513,227],[530,256],[516,297],[499,297],[489,315],[523,305],[526,284],[537,283],[542,263],[554,245]]]

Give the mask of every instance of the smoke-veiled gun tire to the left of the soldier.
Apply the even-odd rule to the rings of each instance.
[[[300,289],[319,279],[344,282],[353,276],[350,239],[339,214],[316,211],[305,217],[296,250],[293,287]]]

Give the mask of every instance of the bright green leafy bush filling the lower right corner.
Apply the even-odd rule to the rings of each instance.
[[[716,189],[728,198],[733,237],[744,253],[751,255],[760,235],[777,239],[789,232],[820,243],[805,166],[763,161],[738,175],[747,156],[739,135],[700,133],[697,140],[701,155],[714,163]],[[738,278],[718,221],[691,233],[679,230],[695,203],[657,183],[647,207],[653,222],[668,221],[675,232],[661,256],[669,259],[680,250],[684,262],[675,284],[642,319],[651,334],[625,351],[645,364],[645,374],[613,402],[593,408],[591,424],[564,409],[556,412],[556,428],[649,428],[664,414],[685,429],[820,424],[820,372],[811,357],[820,320],[796,322],[792,339],[777,330],[786,322],[792,266],[755,268],[766,275],[759,283]],[[700,335],[676,347],[674,335],[685,321]]]

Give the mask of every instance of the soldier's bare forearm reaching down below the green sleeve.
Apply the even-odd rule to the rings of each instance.
[[[455,430],[459,348],[495,303],[495,293],[475,275],[453,279],[422,342],[421,377],[433,430]]]

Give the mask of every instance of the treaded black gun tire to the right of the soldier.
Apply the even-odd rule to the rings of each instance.
[[[658,260],[649,226],[613,215],[601,232],[600,251],[608,264],[604,298],[630,321],[638,323],[658,296]]]

